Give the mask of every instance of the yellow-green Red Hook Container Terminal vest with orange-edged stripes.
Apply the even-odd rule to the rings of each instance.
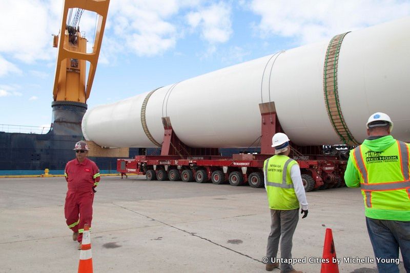
[[[365,215],[383,220],[410,221],[409,151],[397,141],[386,150],[374,152],[360,145],[351,154],[360,173]]]

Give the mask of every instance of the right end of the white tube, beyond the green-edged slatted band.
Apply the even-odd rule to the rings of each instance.
[[[354,137],[374,112],[393,122],[393,136],[410,142],[410,17],[348,33],[339,56],[339,100]]]

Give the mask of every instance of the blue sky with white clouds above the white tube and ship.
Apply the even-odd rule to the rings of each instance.
[[[0,0],[0,129],[49,126],[62,0]],[[111,0],[87,104],[410,16],[410,1]],[[95,15],[80,30],[93,40]]]

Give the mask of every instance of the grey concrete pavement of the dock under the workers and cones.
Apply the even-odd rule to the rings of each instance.
[[[77,243],[64,218],[64,177],[0,178],[0,272],[75,272]],[[324,233],[333,230],[340,272],[377,272],[358,189],[307,193],[295,264],[319,272]],[[103,177],[94,199],[95,272],[265,272],[270,213],[264,189]],[[401,272],[405,272],[400,264]],[[273,272],[279,272],[275,269]]]

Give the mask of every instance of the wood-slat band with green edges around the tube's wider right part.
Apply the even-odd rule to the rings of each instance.
[[[323,92],[327,115],[329,116],[333,128],[339,135],[340,140],[346,145],[359,145],[344,121],[342,111],[340,109],[337,88],[337,64],[339,60],[339,51],[342,40],[347,33],[348,32],[334,36],[327,46],[323,69]]]

